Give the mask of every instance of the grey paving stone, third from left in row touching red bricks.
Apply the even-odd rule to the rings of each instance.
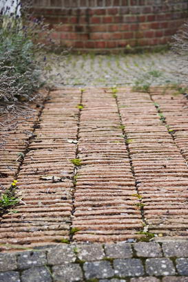
[[[56,265],[62,263],[72,263],[76,261],[73,247],[67,245],[58,245],[48,251],[48,264]]]

